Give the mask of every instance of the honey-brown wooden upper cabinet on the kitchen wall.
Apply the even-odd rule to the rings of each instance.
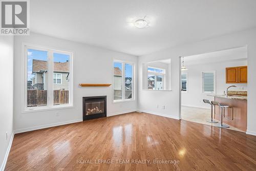
[[[226,83],[247,83],[247,66],[226,68]]]

